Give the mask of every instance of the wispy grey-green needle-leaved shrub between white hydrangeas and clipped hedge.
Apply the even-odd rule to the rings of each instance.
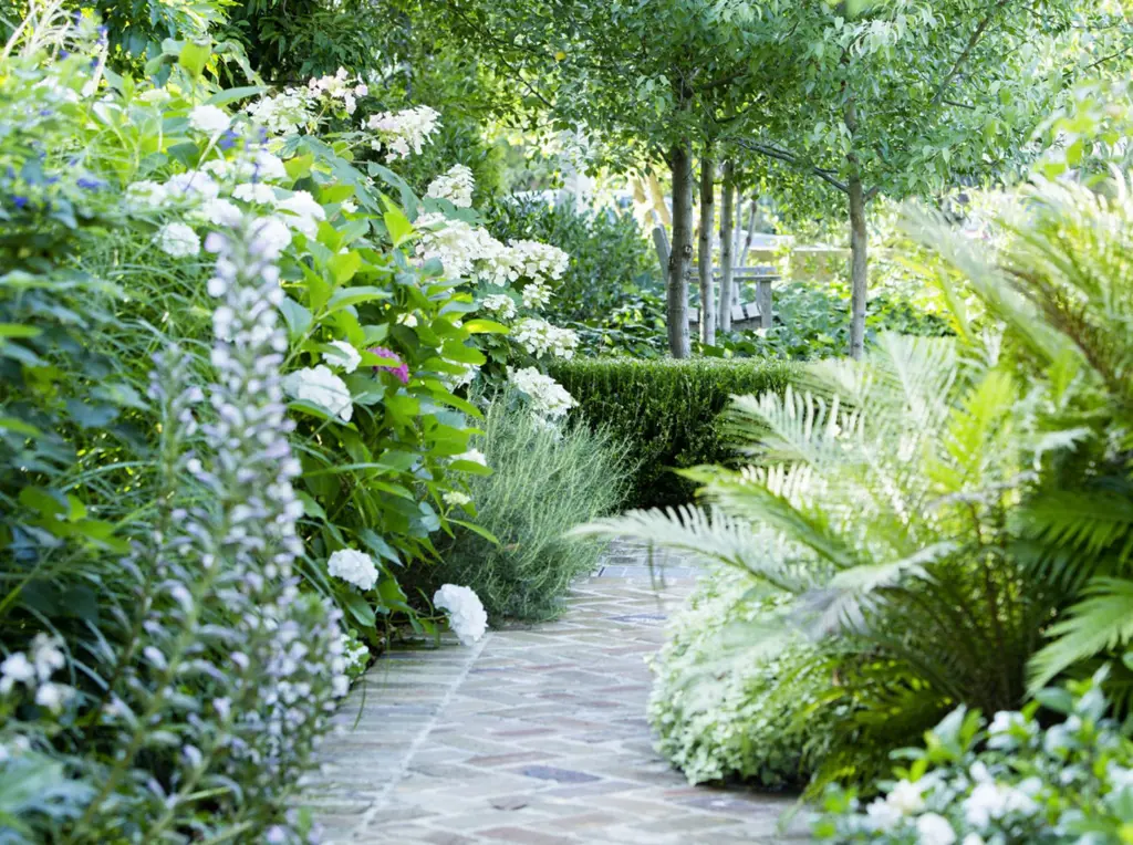
[[[468,489],[476,522],[499,543],[458,526],[427,577],[468,584],[496,620],[553,616],[571,582],[594,570],[600,552],[591,540],[563,534],[621,503],[625,449],[603,430],[548,426],[511,392],[488,407],[483,428],[474,446],[493,471],[471,478]]]

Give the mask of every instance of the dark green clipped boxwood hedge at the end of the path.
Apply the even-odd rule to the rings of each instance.
[[[591,425],[633,444],[640,466],[628,507],[689,502],[696,487],[674,468],[735,458],[716,426],[729,398],[784,390],[791,373],[783,361],[718,358],[579,358],[551,367]]]

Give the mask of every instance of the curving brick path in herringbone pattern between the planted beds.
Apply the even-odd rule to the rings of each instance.
[[[679,563],[679,562],[673,562]],[[559,621],[386,655],[307,785],[332,843],[801,843],[791,799],[690,787],[653,750],[646,655],[695,570],[613,552]]]

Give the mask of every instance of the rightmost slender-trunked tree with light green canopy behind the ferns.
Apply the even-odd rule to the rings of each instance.
[[[820,179],[850,222],[850,353],[864,340],[867,207],[885,194],[1010,181],[1074,76],[1089,16],[1063,0],[794,5],[781,43],[804,59],[736,143]],[[1093,6],[1093,5],[1090,5]],[[1115,57],[1116,58],[1116,57]]]

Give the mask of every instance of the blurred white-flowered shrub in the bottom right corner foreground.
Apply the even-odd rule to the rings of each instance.
[[[1043,690],[1038,702],[999,711],[990,725],[978,710],[957,708],[926,735],[923,748],[894,754],[906,762],[895,769],[888,795],[864,814],[853,791],[832,788],[816,835],[883,845],[1127,842],[1133,742],[1106,718],[1102,677]],[[1039,702],[1063,719],[1040,722]]]

